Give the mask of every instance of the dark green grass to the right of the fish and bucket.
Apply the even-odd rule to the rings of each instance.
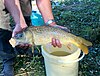
[[[55,3],[53,3],[55,5]],[[93,43],[79,63],[79,76],[100,75],[100,0],[70,0],[53,7],[58,24]]]

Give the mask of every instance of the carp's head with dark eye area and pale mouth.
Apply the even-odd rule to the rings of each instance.
[[[32,34],[29,31],[24,31],[11,38],[9,42],[13,47],[15,47],[26,43],[32,45],[32,40]]]

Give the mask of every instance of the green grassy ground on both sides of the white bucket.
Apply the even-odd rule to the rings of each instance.
[[[68,27],[71,33],[93,43],[89,54],[79,62],[79,76],[100,76],[100,0],[53,1],[52,8],[57,24]],[[26,72],[34,73],[34,76],[45,76],[41,54],[16,58],[17,76],[33,76]]]

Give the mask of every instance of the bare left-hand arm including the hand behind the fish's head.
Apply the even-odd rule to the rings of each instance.
[[[16,26],[13,30],[12,36],[22,31],[22,29],[26,28],[27,25],[25,23],[24,17],[21,12],[19,0],[4,0],[4,4],[8,11],[11,13]]]

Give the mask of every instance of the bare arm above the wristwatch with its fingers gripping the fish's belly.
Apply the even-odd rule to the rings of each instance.
[[[46,23],[48,20],[54,19],[50,0],[36,0],[37,6],[43,16],[44,22]],[[55,26],[56,23],[53,22],[50,26]],[[61,43],[58,39],[52,38],[52,45],[54,47],[61,47]]]

